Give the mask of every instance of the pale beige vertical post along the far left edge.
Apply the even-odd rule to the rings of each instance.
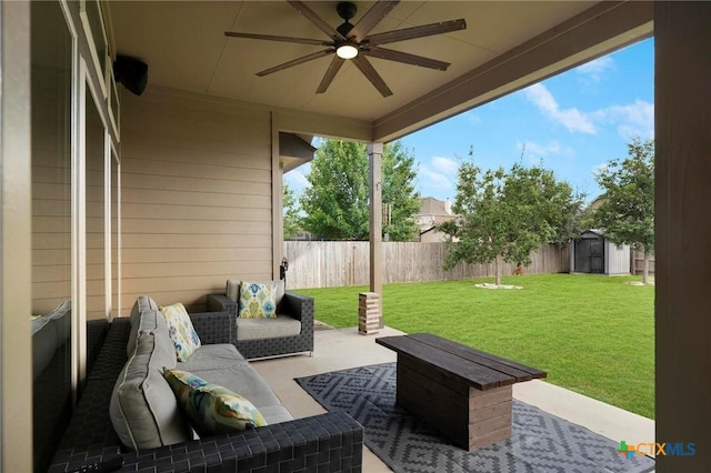
[[[30,3],[0,4],[0,471],[32,471]]]

